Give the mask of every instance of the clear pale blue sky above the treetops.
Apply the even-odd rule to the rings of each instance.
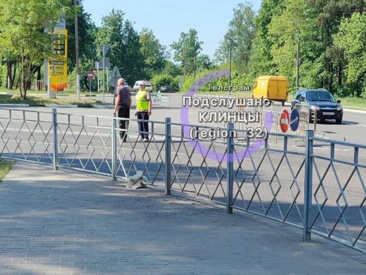
[[[84,7],[91,14],[97,26],[101,18],[112,11],[122,10],[125,18],[135,22],[135,30],[143,27],[152,29],[161,44],[169,46],[179,39],[180,33],[190,28],[198,31],[198,38],[204,42],[202,53],[213,56],[220,40],[228,30],[233,8],[244,1],[236,0],[84,0]],[[252,0],[258,11],[261,0]],[[169,48],[170,49],[170,48]]]

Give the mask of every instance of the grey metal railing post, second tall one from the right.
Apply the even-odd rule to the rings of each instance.
[[[234,150],[233,143],[234,137],[232,136],[232,129],[234,129],[234,123],[227,124],[228,138],[227,138],[227,194],[226,194],[226,212],[232,214],[232,201],[233,201],[233,186],[234,186]]]

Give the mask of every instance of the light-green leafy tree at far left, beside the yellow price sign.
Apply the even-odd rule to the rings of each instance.
[[[35,68],[52,56],[51,38],[44,30],[52,29],[67,7],[64,0],[0,0],[0,55],[16,56],[24,99]]]

